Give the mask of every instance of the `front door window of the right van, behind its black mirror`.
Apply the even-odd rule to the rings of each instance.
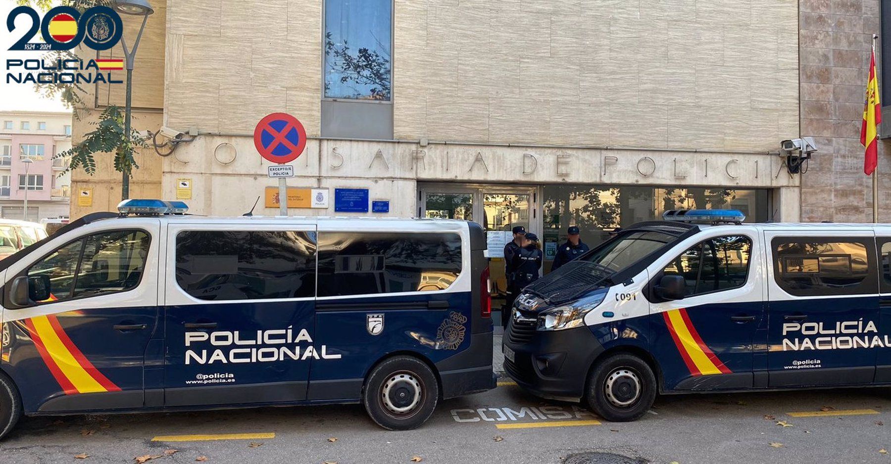
[[[742,235],[702,241],[666,266],[664,275],[680,275],[686,296],[736,289],[746,283],[752,240]]]

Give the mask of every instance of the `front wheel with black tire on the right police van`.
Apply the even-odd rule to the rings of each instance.
[[[613,354],[591,371],[585,400],[601,418],[629,422],[650,410],[656,389],[656,376],[647,362],[634,354]]]

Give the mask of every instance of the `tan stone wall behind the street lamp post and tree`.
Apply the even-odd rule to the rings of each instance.
[[[133,120],[132,125],[136,130],[157,131],[162,124],[164,104],[164,63],[165,63],[165,30],[167,29],[167,8],[163,3],[153,2],[154,14],[149,17],[143,32],[143,37],[136,53],[135,69],[133,72]],[[124,37],[127,45],[132,46],[139,27],[141,18],[123,15]],[[81,58],[87,60],[96,58],[97,53],[81,47]],[[98,54],[101,58],[123,58],[124,53],[120,45],[109,51]],[[79,118],[74,118],[71,127],[71,140],[78,143],[84,135],[93,131],[94,123],[98,120],[102,110],[108,105],[118,105],[122,110],[125,104],[125,91],[127,71],[113,71],[113,76],[124,81],[121,84],[112,85],[88,85],[86,94],[81,98],[86,103],[86,108],[78,111]],[[93,211],[115,211],[121,198],[121,174],[114,169],[112,155],[109,153],[95,153],[96,173],[87,175],[78,169],[71,173],[71,212],[72,219],[84,216]],[[141,150],[135,156],[139,168],[130,179],[131,198],[158,198],[161,193],[161,158],[151,149]],[[93,189],[93,205],[81,207],[78,205],[78,190],[81,188]]]

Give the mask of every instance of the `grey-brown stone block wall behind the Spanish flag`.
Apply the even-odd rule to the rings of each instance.
[[[860,127],[871,37],[879,32],[879,0],[801,2],[801,134],[820,147],[801,176],[804,221],[872,222]],[[879,141],[880,222],[891,221],[887,143]]]

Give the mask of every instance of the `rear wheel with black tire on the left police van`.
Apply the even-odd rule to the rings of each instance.
[[[365,411],[380,427],[411,430],[433,414],[439,385],[427,364],[410,356],[396,356],[368,374],[362,397]]]

